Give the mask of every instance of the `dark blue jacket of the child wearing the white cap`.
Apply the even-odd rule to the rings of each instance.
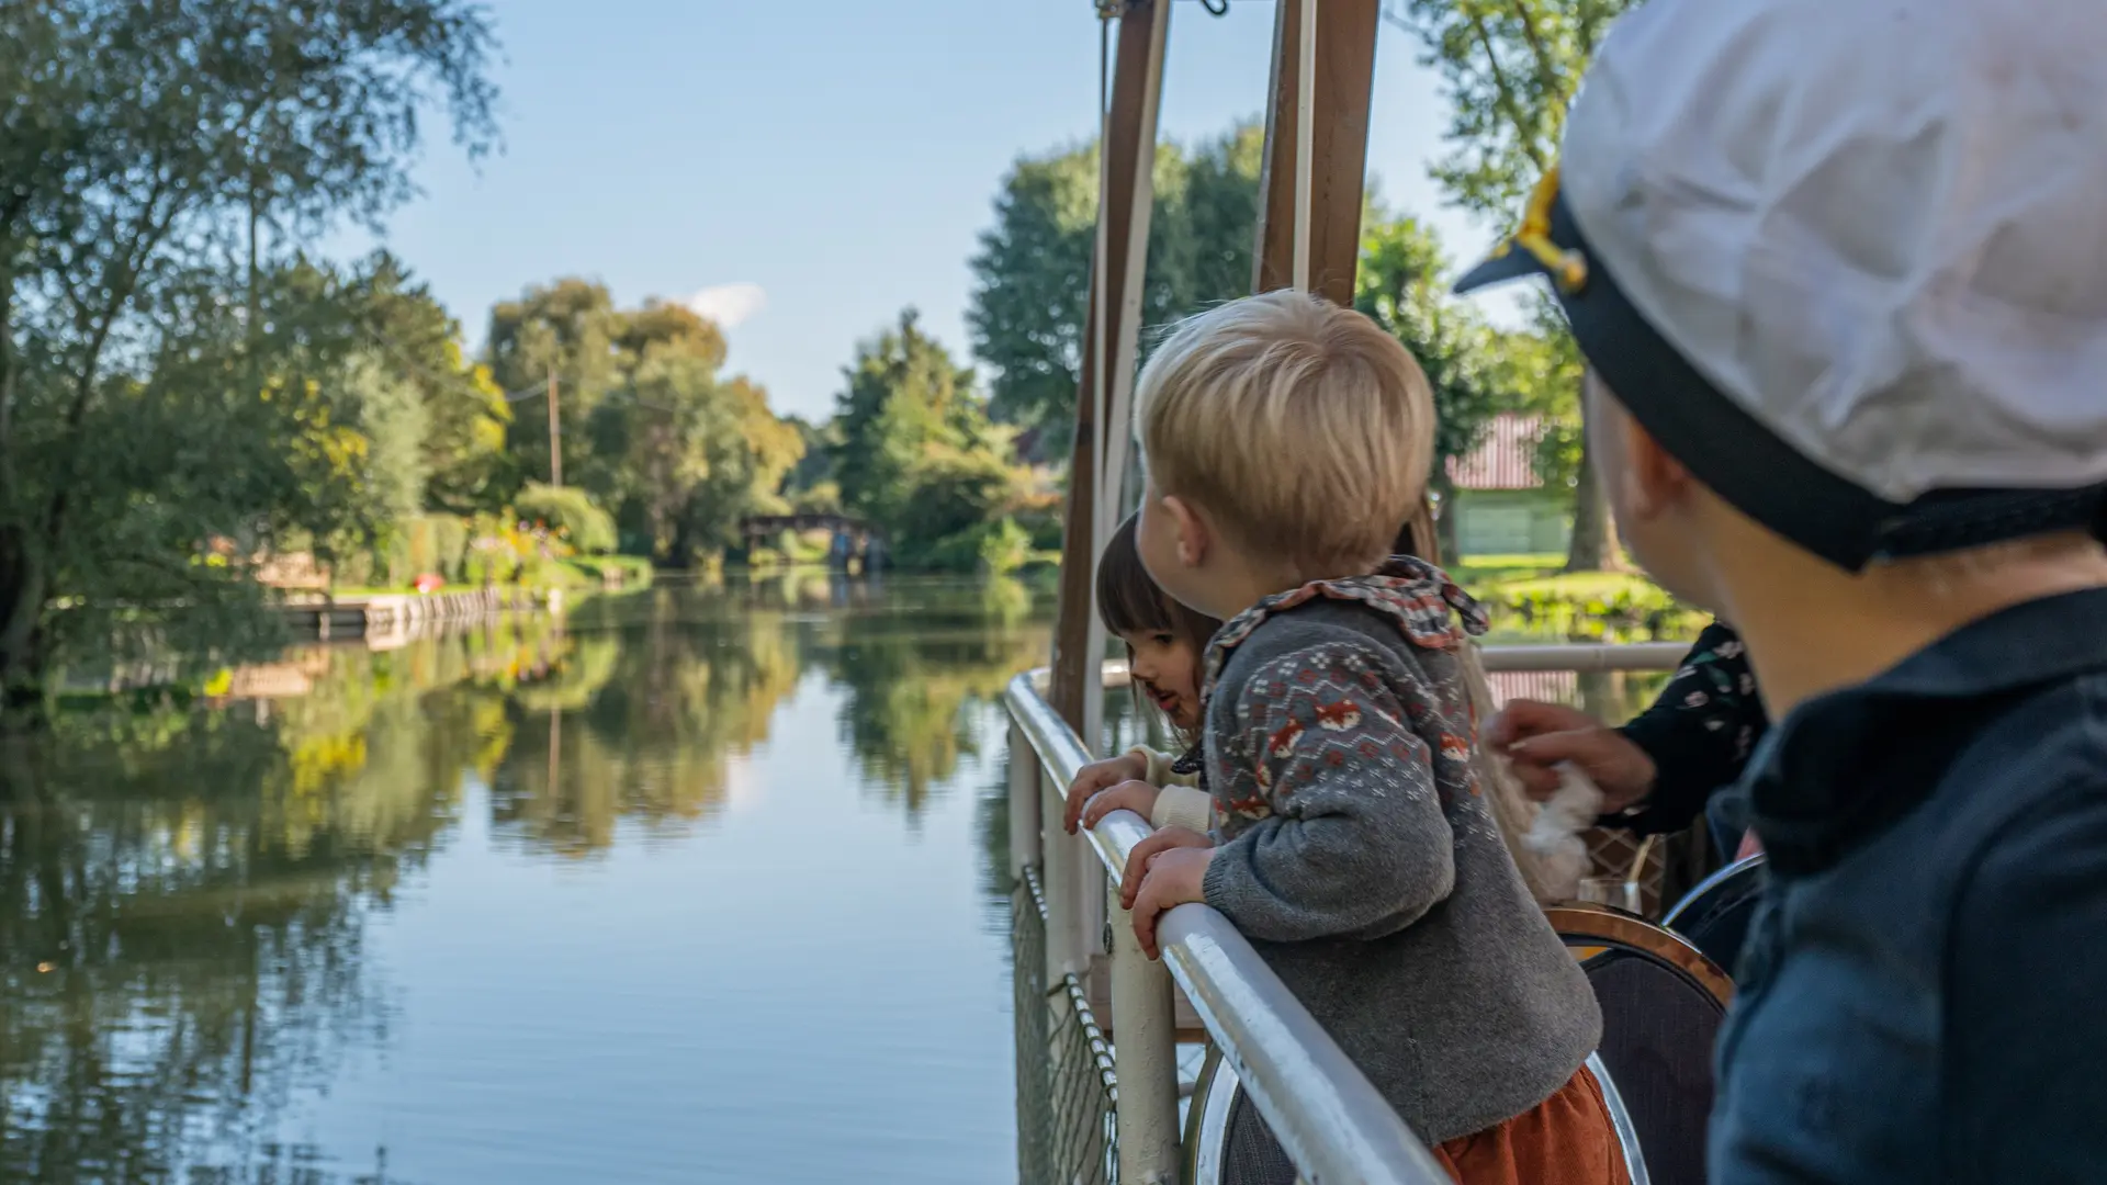
[[[2107,1181],[2107,590],[1793,711],[1711,1185]]]

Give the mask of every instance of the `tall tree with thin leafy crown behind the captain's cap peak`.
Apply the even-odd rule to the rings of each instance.
[[[1635,0],[1403,0],[1389,15],[1420,38],[1450,101],[1450,154],[1435,179],[1477,213],[1513,219],[1557,160],[1566,108],[1595,46]],[[1555,420],[1578,420],[1578,384]],[[1578,439],[1578,436],[1574,436]],[[1568,571],[1618,567],[1608,506],[1580,443]]]

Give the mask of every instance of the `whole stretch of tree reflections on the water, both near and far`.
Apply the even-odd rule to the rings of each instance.
[[[1043,607],[1013,582],[664,588],[563,630],[308,647],[232,679],[306,694],[11,740],[0,1181],[318,1179],[297,1164],[314,1149],[272,1143],[278,1115],[383,1029],[367,921],[445,841],[468,778],[541,850],[605,850],[624,818],[689,827],[771,730],[826,727],[782,715],[822,675],[862,776],[914,816],[1001,736],[992,704],[1043,658]]]

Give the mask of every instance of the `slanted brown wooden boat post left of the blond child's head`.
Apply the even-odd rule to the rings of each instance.
[[[1153,198],[1157,108],[1163,95],[1163,46],[1171,0],[1138,0],[1119,17],[1119,53],[1112,65],[1112,103],[1100,141],[1100,205],[1104,268],[1089,278],[1091,342],[1083,350],[1083,382],[1075,401],[1075,445],[1068,458],[1068,504],[1062,519],[1060,609],[1054,626],[1054,679],[1047,700],[1091,749],[1098,746],[1094,698],[1102,696],[1098,664],[1104,633],[1094,607],[1094,576],[1104,533],[1117,519],[1100,519],[1100,502],[1117,502],[1125,464],[1127,424],[1119,375],[1131,384],[1140,331],[1140,278],[1146,266],[1148,207]],[[1102,346],[1102,350],[1100,350]],[[1098,358],[1104,365],[1098,365]],[[1106,382],[1106,377],[1115,382]],[[1108,458],[1119,441],[1117,458]],[[1108,493],[1106,493],[1108,491]],[[1110,514],[1110,508],[1106,508]],[[1104,531],[1104,533],[1100,533]]]

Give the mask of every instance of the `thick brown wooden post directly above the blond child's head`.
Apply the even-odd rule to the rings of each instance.
[[[1353,304],[1361,255],[1361,200],[1367,173],[1367,105],[1376,84],[1380,0],[1323,0],[1315,21],[1304,4],[1279,0],[1273,17],[1273,86],[1266,99],[1266,154],[1260,167],[1258,251],[1252,291],[1302,287],[1296,274],[1296,173],[1300,127],[1308,143],[1308,291]],[[1302,30],[1315,23],[1304,53]],[[1302,63],[1313,61],[1311,110],[1298,112]]]

